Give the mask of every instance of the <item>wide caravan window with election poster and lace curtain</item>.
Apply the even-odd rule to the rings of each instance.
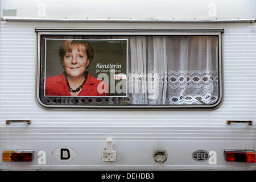
[[[220,32],[142,32],[59,35],[39,31],[39,103],[44,107],[155,108],[220,103]]]

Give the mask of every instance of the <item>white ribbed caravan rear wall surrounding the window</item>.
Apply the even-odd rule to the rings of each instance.
[[[256,24],[163,23],[28,23],[0,24],[0,150],[35,150],[31,164],[0,162],[0,169],[256,169],[255,163],[227,163],[225,149],[256,150]],[[44,110],[35,102],[35,27],[83,28],[225,28],[223,44],[224,102],[216,110]],[[6,119],[30,119],[6,125]],[[227,119],[253,120],[254,125],[226,125]],[[117,162],[101,162],[106,137],[112,137]],[[52,151],[77,151],[69,163]],[[196,150],[217,152],[217,164],[195,162]],[[46,165],[37,163],[38,151]],[[166,150],[159,166],[152,154]],[[0,157],[1,159],[2,157]],[[1,160],[2,161],[2,160]]]

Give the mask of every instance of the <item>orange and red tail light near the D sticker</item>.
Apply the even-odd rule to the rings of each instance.
[[[3,162],[32,162],[34,150],[3,150]]]

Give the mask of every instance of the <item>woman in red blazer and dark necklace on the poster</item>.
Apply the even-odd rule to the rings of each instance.
[[[46,96],[109,96],[108,84],[86,69],[93,61],[93,49],[85,40],[65,40],[59,49],[64,72],[46,78]]]

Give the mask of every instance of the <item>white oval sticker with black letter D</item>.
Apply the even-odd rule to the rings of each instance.
[[[52,155],[59,162],[70,162],[76,158],[76,151],[71,147],[58,147],[53,150]]]

